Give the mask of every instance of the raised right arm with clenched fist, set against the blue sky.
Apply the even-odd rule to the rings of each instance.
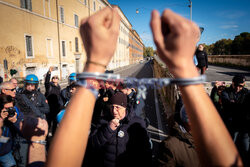
[[[165,10],[162,17],[153,11],[151,28],[158,54],[174,77],[199,76],[193,64],[198,27]],[[180,86],[180,90],[201,163],[206,166],[242,165],[237,149],[204,86]]]

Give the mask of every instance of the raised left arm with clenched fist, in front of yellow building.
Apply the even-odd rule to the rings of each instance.
[[[118,12],[109,7],[81,21],[80,32],[88,60],[109,63],[115,52],[119,25]],[[84,71],[103,73],[105,68],[90,63]],[[95,100],[90,90],[78,88],[50,146],[47,166],[81,166]]]

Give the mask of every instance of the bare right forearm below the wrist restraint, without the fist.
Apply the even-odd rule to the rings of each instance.
[[[239,165],[237,149],[203,85],[180,89],[202,163],[208,166]]]

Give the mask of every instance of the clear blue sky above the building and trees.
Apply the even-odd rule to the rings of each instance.
[[[165,8],[190,18],[188,0],[109,0],[120,6],[140,34],[146,46],[154,46],[149,27],[153,9]],[[222,38],[234,39],[241,32],[250,32],[250,0],[192,0],[193,21],[204,27],[199,43],[212,44]],[[136,9],[139,8],[139,14]]]

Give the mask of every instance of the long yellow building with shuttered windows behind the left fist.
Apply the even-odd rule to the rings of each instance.
[[[112,7],[106,0],[0,0],[0,76],[7,80],[10,70],[16,70],[16,77],[32,73],[42,80],[50,66],[61,79],[81,72],[86,53],[80,20],[106,6]],[[130,63],[132,25],[121,10],[119,14],[120,35],[110,69]]]

